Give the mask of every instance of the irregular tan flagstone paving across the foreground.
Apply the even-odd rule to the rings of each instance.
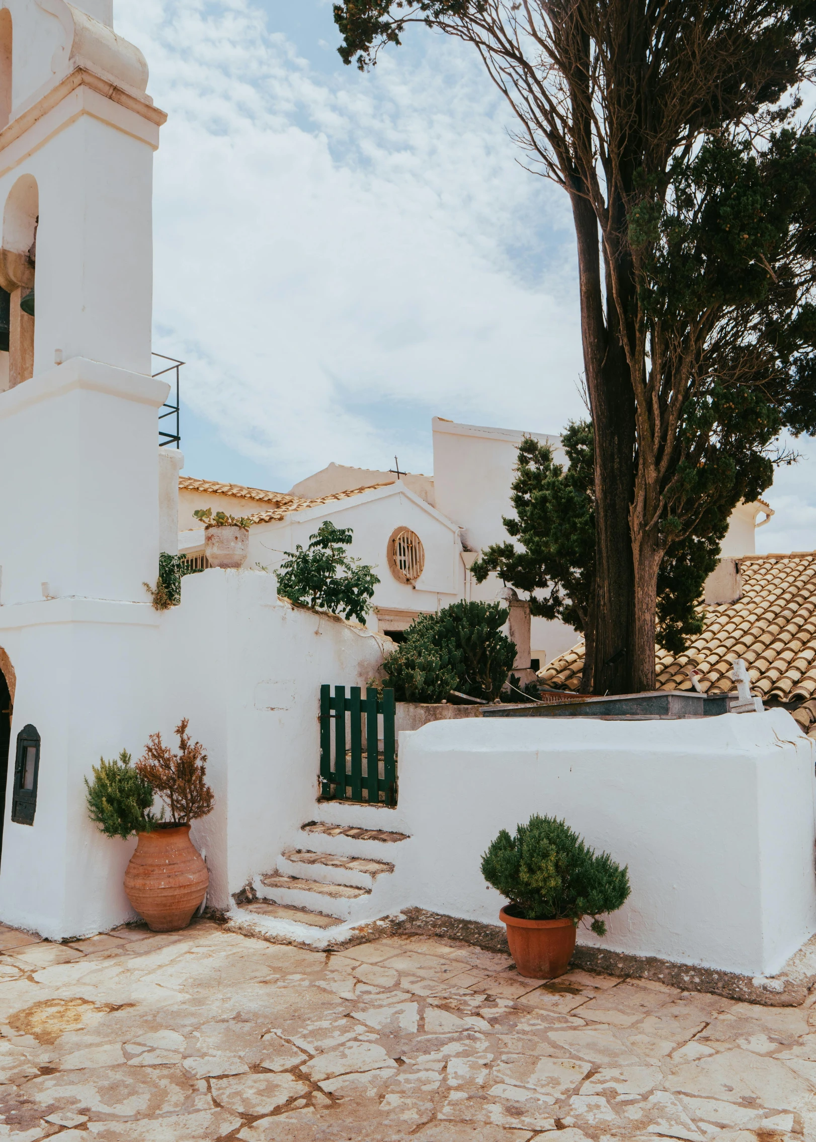
[[[0,1140],[816,1142],[816,1007],[429,938],[0,927]]]

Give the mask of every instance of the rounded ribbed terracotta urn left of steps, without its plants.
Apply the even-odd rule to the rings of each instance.
[[[207,892],[209,872],[189,825],[139,833],[125,872],[125,892],[152,932],[186,927]]]

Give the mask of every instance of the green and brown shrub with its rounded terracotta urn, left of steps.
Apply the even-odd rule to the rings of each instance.
[[[99,829],[109,837],[138,836],[125,892],[153,932],[186,927],[209,885],[207,866],[190,839],[191,822],[213,809],[213,790],[205,781],[207,755],[199,741],[190,741],[187,718],[176,734],[177,754],[154,733],[136,765],[122,750],[118,761],[101,759],[94,766],[93,782],[86,779],[88,811]],[[155,794],[163,802],[158,818]]]

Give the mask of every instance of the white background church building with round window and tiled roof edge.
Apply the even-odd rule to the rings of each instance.
[[[205,565],[203,528],[193,515],[202,507],[254,518],[248,563],[270,570],[296,544],[305,547],[323,520],[351,528],[351,554],[379,577],[369,626],[392,637],[399,637],[417,614],[433,613],[457,600],[504,598],[496,574],[478,584],[470,569],[487,547],[510,538],[502,518],[513,514],[511,484],[521,441],[531,436],[549,444],[557,463],[566,465],[561,440],[443,417],[434,417],[431,427],[432,476],[329,464],[288,492],[181,476],[178,550],[197,566]],[[173,480],[169,468],[168,480]],[[722,545],[723,558],[753,555],[754,531],[773,514],[762,500],[739,504]],[[407,546],[413,553],[408,573],[398,544],[400,550]],[[528,617],[526,622],[528,635],[523,621],[513,622],[520,651],[517,669],[537,670],[576,642],[575,630],[558,620]]]

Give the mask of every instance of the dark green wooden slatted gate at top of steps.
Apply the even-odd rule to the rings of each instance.
[[[320,687],[320,796],[326,801],[397,804],[394,692],[369,686]],[[346,717],[347,715],[347,717]],[[382,717],[382,733],[379,731]],[[334,729],[333,729],[334,723]]]

